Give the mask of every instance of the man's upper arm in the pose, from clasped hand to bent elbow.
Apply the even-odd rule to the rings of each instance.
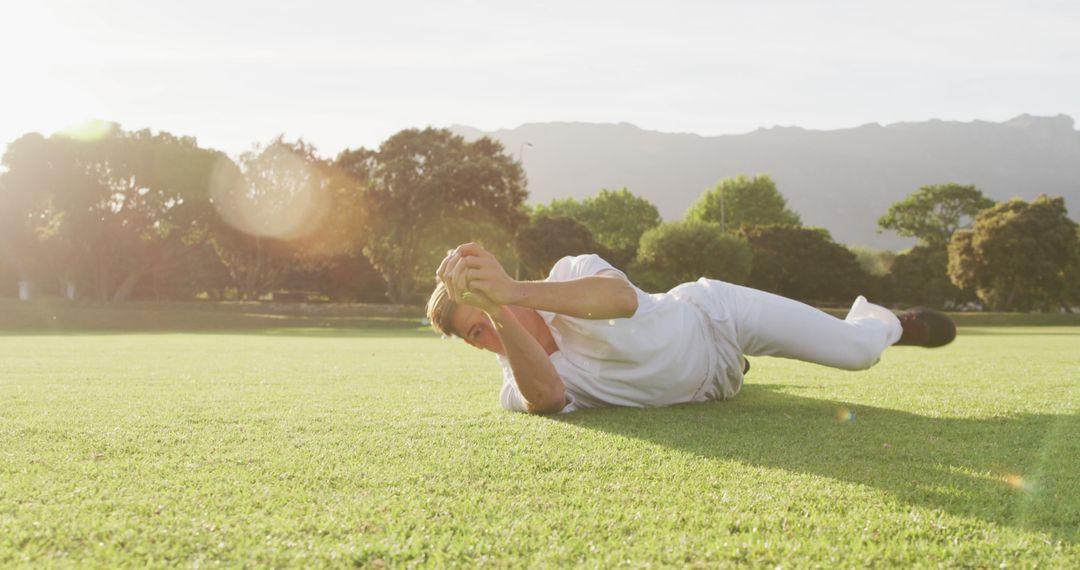
[[[621,275],[556,282],[514,281],[494,255],[476,244],[459,246],[438,271],[441,277],[451,272],[457,275],[450,280],[453,283],[447,282],[451,293],[455,289],[482,293],[498,304],[595,320],[630,317],[637,311],[637,291]]]

